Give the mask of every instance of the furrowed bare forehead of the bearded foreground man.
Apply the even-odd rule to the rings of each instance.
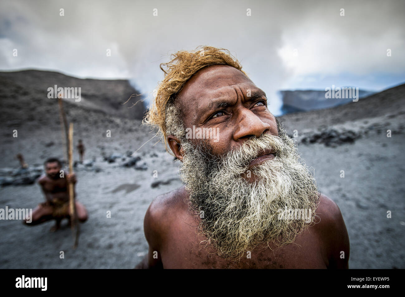
[[[210,65],[199,70],[183,86],[176,105],[183,116],[192,116],[215,100],[257,89],[243,72],[229,65]]]

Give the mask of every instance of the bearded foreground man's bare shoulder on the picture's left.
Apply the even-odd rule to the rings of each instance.
[[[153,199],[143,221],[145,237],[149,245],[158,245],[158,242],[162,242],[162,236],[167,227],[176,219],[177,213],[184,208],[185,195],[184,187],[180,187]]]

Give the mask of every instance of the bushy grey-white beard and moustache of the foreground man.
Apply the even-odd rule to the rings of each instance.
[[[280,137],[249,139],[226,156],[215,158],[201,146],[188,141],[182,145],[185,155],[180,175],[190,196],[190,210],[198,217],[203,214],[200,234],[221,257],[240,258],[262,243],[289,244],[313,222],[319,203],[316,183],[285,132]],[[256,178],[249,182],[243,176],[249,162],[266,148],[273,148],[277,156],[254,166]],[[279,219],[279,210],[286,208],[310,209],[311,217]]]

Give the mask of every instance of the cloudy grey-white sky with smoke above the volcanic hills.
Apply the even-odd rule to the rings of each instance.
[[[0,70],[128,78],[150,99],[160,63],[207,44],[229,49],[278,114],[278,90],[405,82],[404,14],[405,1],[390,0],[2,0]]]

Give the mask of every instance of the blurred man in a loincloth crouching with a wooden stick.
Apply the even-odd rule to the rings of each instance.
[[[26,225],[37,225],[55,219],[56,224],[51,228],[51,231],[56,231],[60,228],[62,219],[67,218],[70,221],[68,181],[75,185],[77,180],[74,173],[68,174],[66,177],[60,177],[62,164],[56,158],[48,159],[44,165],[46,174],[38,179],[38,184],[45,194],[46,202],[40,203],[34,209],[32,222],[28,223],[30,221],[30,218],[28,218],[25,223]],[[87,210],[84,205],[76,201],[75,206],[79,221],[86,221]]]

